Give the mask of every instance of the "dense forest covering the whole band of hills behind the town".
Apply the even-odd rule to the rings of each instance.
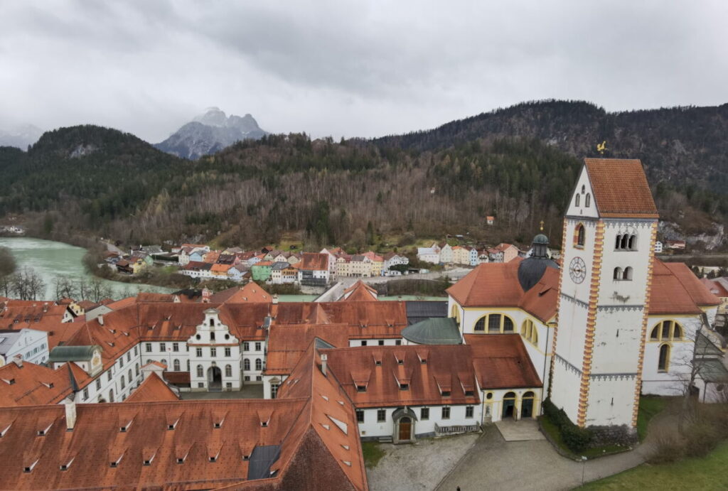
[[[371,141],[268,135],[197,161],[113,129],[63,128],[28,153],[0,148],[0,216],[56,238],[245,247],[284,235],[363,247],[445,233],[523,244],[545,220],[558,242],[579,158],[607,140],[609,156],[643,159],[662,215],[700,228],[728,210],[727,121],[725,105],[606,113],[545,101]]]

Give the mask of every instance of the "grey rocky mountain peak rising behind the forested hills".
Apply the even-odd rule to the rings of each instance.
[[[167,140],[154,146],[161,151],[194,160],[221,151],[237,141],[258,140],[267,134],[258,127],[258,122],[250,114],[242,117],[234,114],[226,116],[219,108],[209,108]]]

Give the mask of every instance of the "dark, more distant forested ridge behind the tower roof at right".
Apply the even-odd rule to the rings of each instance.
[[[653,185],[688,183],[725,193],[728,184],[728,104],[608,113],[591,103],[545,100],[481,113],[436,129],[375,140],[377,145],[437,150],[484,138],[537,138],[579,158],[641,159]]]

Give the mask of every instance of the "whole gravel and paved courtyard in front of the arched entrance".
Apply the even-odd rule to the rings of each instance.
[[[638,466],[649,445],[576,462],[554,450],[536,421],[521,420],[502,429],[486,426],[479,435],[379,444],[379,449],[384,456],[367,469],[374,491],[564,490]]]

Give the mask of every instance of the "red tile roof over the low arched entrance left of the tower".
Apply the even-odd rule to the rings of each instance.
[[[543,384],[518,334],[466,334],[482,388],[527,388]]]

